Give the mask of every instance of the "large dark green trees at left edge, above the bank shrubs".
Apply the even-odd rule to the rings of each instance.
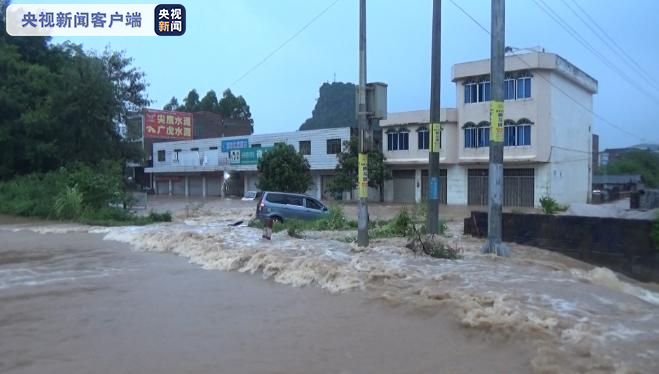
[[[136,155],[118,124],[148,104],[144,73],[121,52],[49,40],[0,30],[0,180]]]

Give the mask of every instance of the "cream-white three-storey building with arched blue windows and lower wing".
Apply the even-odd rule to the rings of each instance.
[[[597,81],[551,53],[507,56],[504,205],[586,202],[591,191],[592,108]],[[486,205],[490,61],[453,66],[457,108],[442,109],[440,201]],[[426,196],[429,112],[391,113],[380,126],[393,180],[387,201]]]

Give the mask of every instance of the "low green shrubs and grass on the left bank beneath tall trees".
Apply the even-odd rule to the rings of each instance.
[[[115,165],[74,165],[0,182],[0,213],[89,225],[146,225],[171,221],[171,214],[138,216]]]

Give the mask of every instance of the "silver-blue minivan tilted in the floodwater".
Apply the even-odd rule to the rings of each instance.
[[[316,219],[329,213],[318,199],[296,193],[263,192],[256,205],[256,217],[284,222],[287,219]]]

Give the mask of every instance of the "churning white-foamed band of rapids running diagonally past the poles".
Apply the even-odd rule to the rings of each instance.
[[[610,270],[517,245],[510,258],[481,255],[481,241],[462,237],[457,223],[448,240],[463,258],[450,261],[415,256],[400,239],[376,241],[365,251],[285,233],[267,241],[260,230],[228,226],[234,221],[202,217],[90,231],[204,269],[260,273],[330,292],[364,290],[423,311],[450,308],[466,327],[534,344],[538,372],[659,372],[659,294]]]

